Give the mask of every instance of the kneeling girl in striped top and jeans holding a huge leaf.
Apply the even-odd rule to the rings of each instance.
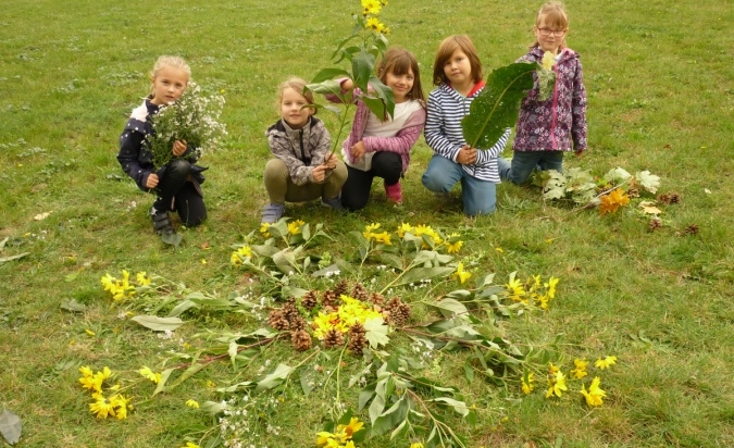
[[[428,96],[425,141],[434,154],[423,174],[423,185],[443,198],[461,182],[461,200],[468,216],[495,211],[499,184],[497,157],[507,129],[492,148],[471,148],[461,130],[461,119],[484,88],[482,62],[466,35],[450,36],[438,47],[433,69],[436,87]]]

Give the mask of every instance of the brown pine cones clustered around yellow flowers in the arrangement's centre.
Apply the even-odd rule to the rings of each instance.
[[[400,300],[399,297],[393,297],[385,301],[383,295],[368,291],[361,283],[354,283],[350,290],[347,281],[341,279],[334,288],[327,289],[323,294],[315,289],[306,293],[300,298],[300,302],[293,297],[289,298],[283,308],[270,312],[268,324],[279,332],[289,331],[290,340],[296,350],[308,350],[312,346],[312,340],[303,314],[310,318],[318,311],[335,312],[338,310],[343,295],[372,304],[373,309],[381,312],[385,322],[391,326],[403,326],[410,319],[410,306]],[[325,348],[341,347],[345,340],[350,351],[354,354],[361,354],[368,345],[366,329],[359,323],[352,325],[346,335],[338,329],[329,329],[324,335],[323,345]]]

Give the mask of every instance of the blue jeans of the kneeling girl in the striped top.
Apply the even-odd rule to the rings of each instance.
[[[434,192],[449,192],[461,181],[461,200],[466,215],[475,216],[495,211],[497,203],[495,183],[472,177],[460,163],[434,154],[421,181]]]

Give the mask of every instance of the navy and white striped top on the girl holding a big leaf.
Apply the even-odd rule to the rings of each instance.
[[[435,154],[453,162],[461,147],[466,145],[461,130],[461,119],[469,113],[469,107],[483,88],[464,98],[451,86],[441,84],[428,96],[427,115],[425,120],[425,142]],[[497,169],[497,157],[505,149],[510,138],[510,129],[506,129],[499,140],[489,149],[476,148],[476,162],[462,165],[466,174],[481,181],[500,183]]]

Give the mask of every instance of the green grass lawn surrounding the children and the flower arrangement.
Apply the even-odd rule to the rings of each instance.
[[[140,365],[161,366],[166,350],[179,348],[177,338],[206,347],[212,343],[197,336],[206,329],[245,331],[257,323],[212,313],[173,339],[160,339],[120,319],[121,308],[111,306],[99,278],[128,269],[223,296],[247,290],[244,272],[229,266],[231,246],[259,227],[266,197],[264,130],[277,119],[276,87],[290,75],[310,78],[331,66],[358,2],[7,3],[0,16],[0,240],[10,239],[0,257],[29,254],[0,263],[0,406],[23,420],[18,446],[184,445],[185,435],[210,423],[184,401],[220,400],[208,381],[221,387],[256,379],[256,368],[233,373],[226,362],[214,363],[173,394],[152,399],[152,388],[141,385],[136,411],[122,422],[88,412],[77,368],[109,365],[135,378]],[[406,221],[462,233],[462,254],[478,260],[472,272],[495,272],[496,283],[513,271],[561,278],[549,312],[499,321],[498,332],[519,346],[550,344],[561,335],[565,369],[573,357],[618,356],[618,365],[602,373],[605,406],[589,410],[571,390],[547,400],[542,390],[523,398],[517,390],[469,383],[457,368],[460,354],[436,354],[441,362],[428,373],[462,388],[478,409],[476,427],[455,422],[469,434],[469,446],[732,446],[734,10],[713,0],[565,3],[568,39],[582,54],[589,99],[588,154],[569,157],[565,165],[596,175],[618,165],[660,175],[661,191],[683,198],[664,207],[661,229],[650,232],[634,203],[602,217],[544,203],[537,189],[506,184],[493,216],[437,212],[420,183],[431,157],[422,140],[401,209],[385,203],[375,184],[374,204],[360,213],[340,216],[311,206],[288,213],[325,224],[336,241],[318,252],[344,254],[348,233],[365,223],[391,229]],[[427,94],[444,37],[471,35],[486,74],[524,53],[538,7],[394,0],[383,17],[390,42],[418,55]],[[152,234],[146,216],[152,198],[115,177],[123,174],[117,136],[164,53],[184,55],[197,82],[225,90],[223,121],[231,134],[224,149],[202,160],[211,166],[203,186],[210,220],[184,231],[177,250]],[[43,212],[51,214],[34,219]],[[694,224],[698,233],[686,234]],[[70,299],[85,311],[62,310]],[[264,357],[294,358],[285,347]],[[350,360],[347,374],[358,369]],[[297,387],[284,397],[278,413],[268,418],[283,431],[268,446],[312,446],[325,411],[321,400],[303,398]],[[363,445],[408,443],[378,437]]]

